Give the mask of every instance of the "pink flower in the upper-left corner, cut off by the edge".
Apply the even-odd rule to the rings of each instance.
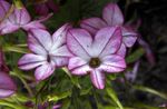
[[[21,9],[14,7],[11,13],[10,13],[10,7],[11,4],[8,3],[7,1],[4,0],[0,1],[0,16],[2,17],[0,18],[2,20],[0,22],[0,34],[11,33],[13,31],[17,31],[20,28],[22,28],[26,31],[29,31],[30,29],[35,29],[35,28],[46,29],[46,27],[40,22],[47,20],[51,16],[49,14],[46,18],[31,21],[30,14],[28,13],[24,7]],[[4,18],[6,14],[8,14],[7,18]]]

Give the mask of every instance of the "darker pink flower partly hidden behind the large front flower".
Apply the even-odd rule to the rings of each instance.
[[[124,17],[116,3],[109,3],[104,8],[102,19],[101,18],[89,18],[80,22],[80,27],[87,29],[91,34],[105,27],[115,27],[119,26],[122,32],[122,44],[118,54],[125,57],[126,47],[132,47],[137,40],[137,33],[129,26],[124,26]]]

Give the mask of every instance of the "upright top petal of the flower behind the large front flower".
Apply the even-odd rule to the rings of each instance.
[[[124,17],[116,3],[109,3],[102,11],[102,18],[108,26],[121,26],[124,23]]]

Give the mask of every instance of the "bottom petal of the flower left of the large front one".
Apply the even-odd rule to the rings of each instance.
[[[50,63],[46,63],[36,69],[35,77],[37,81],[45,80],[50,75],[52,75],[53,71],[55,71],[55,67],[52,67]]]

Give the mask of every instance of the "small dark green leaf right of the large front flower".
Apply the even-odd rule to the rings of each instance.
[[[141,58],[145,53],[145,50],[143,48],[137,49],[135,52],[132,52],[130,56],[126,58],[127,63],[131,63],[137,61],[139,58]]]

